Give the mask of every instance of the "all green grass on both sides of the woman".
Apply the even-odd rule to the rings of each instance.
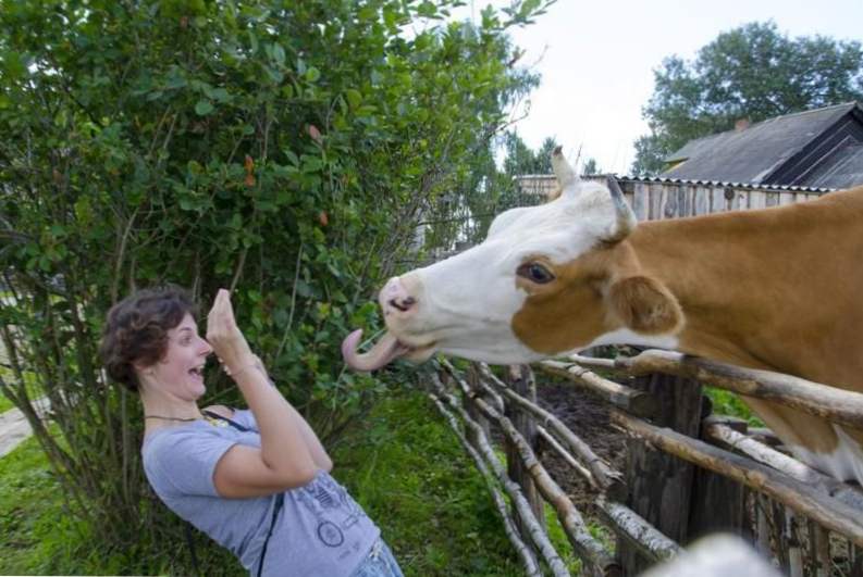
[[[382,401],[333,451],[333,475],[381,527],[407,577],[523,574],[483,480],[422,393]],[[577,573],[579,562],[550,509],[546,518],[552,541]],[[112,553],[94,542],[87,527],[64,512],[61,487],[33,438],[0,459],[0,575],[183,569],[167,544],[153,556],[144,545]],[[220,548],[205,537],[197,542],[200,556],[218,559],[213,550]],[[183,543],[172,545],[185,557]],[[224,575],[244,575],[233,561],[219,567]]]

